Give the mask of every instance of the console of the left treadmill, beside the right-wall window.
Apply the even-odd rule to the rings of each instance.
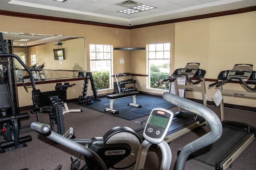
[[[192,78],[203,78],[206,71],[203,69],[199,69],[200,63],[187,63],[184,68],[176,69],[173,73],[174,76],[180,74],[186,74],[188,77]]]

